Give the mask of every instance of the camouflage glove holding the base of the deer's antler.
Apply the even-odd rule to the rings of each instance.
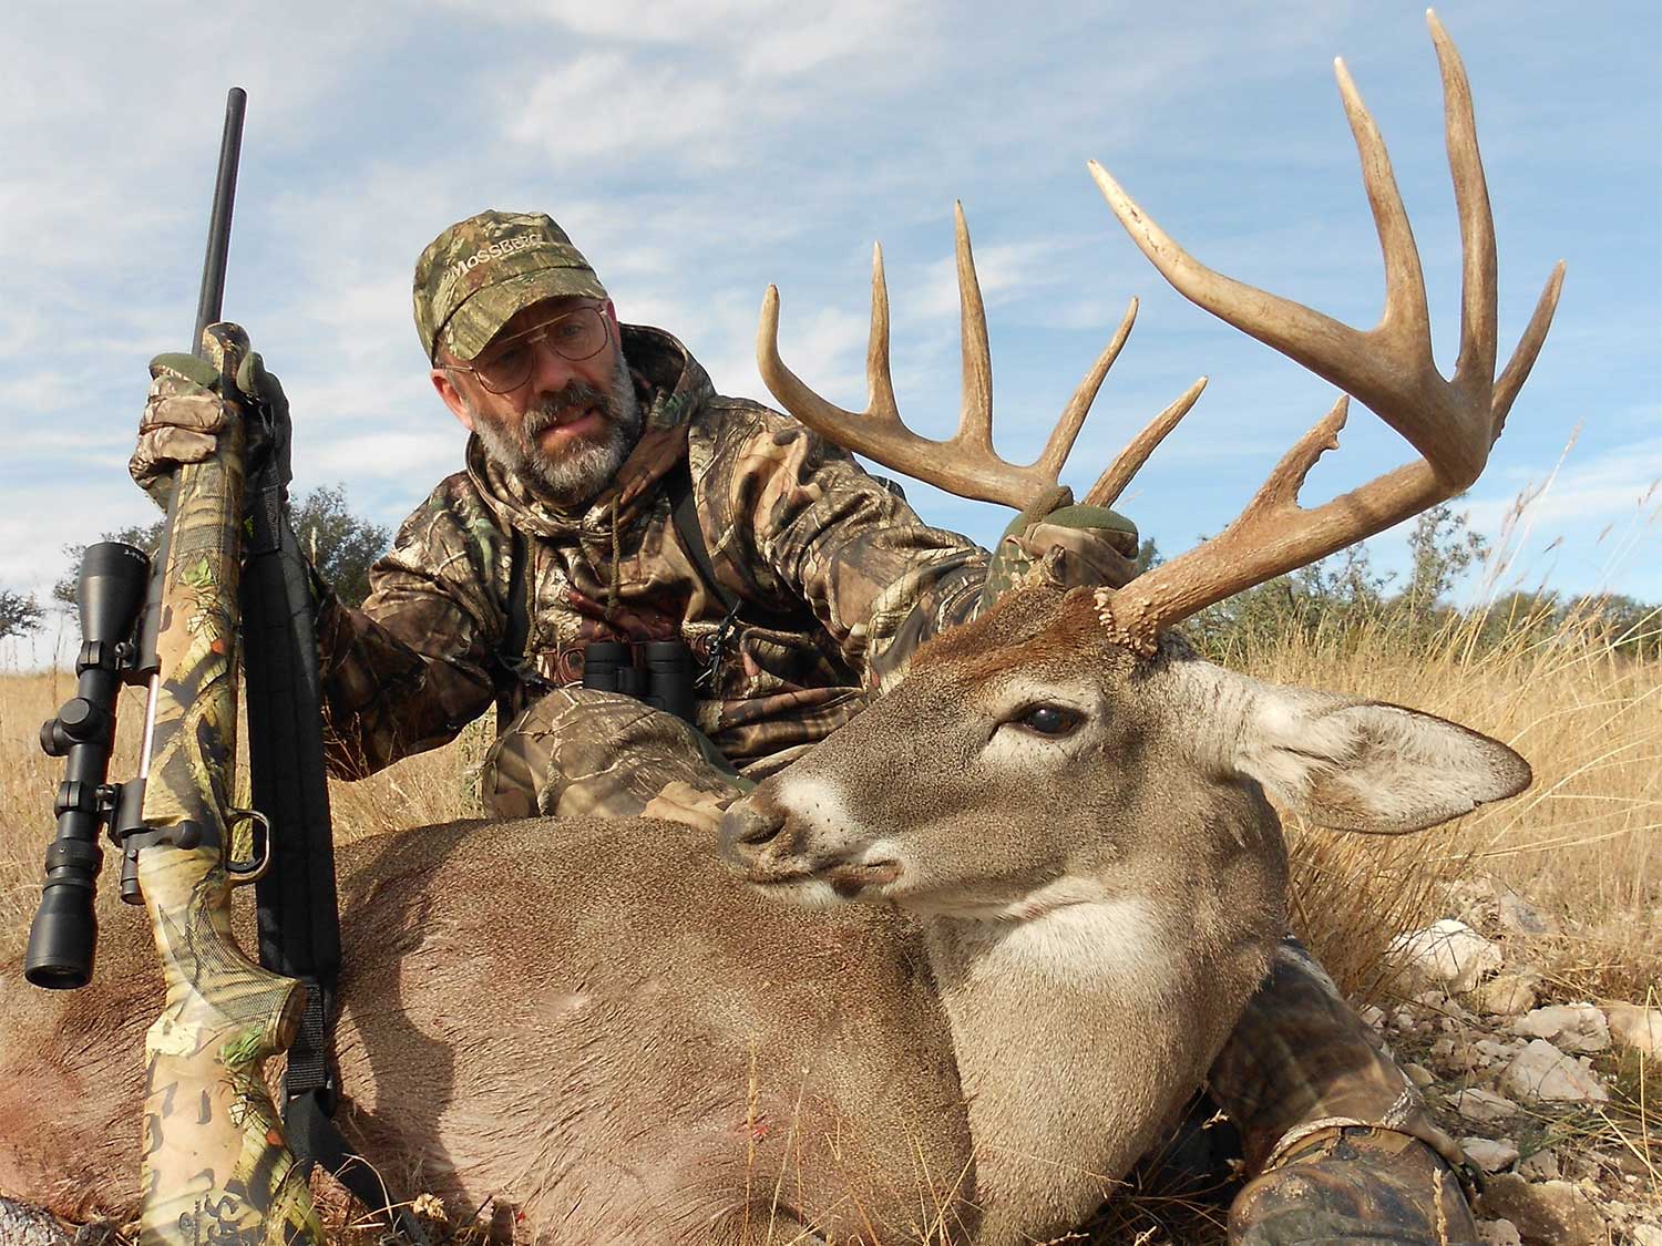
[[[1107,507],[1064,505],[1064,492],[1034,503],[1004,530],[987,583],[986,610],[1010,588],[1050,583],[1060,588],[1120,588],[1137,575],[1137,525]]]

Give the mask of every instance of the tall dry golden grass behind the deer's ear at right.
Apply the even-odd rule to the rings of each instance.
[[[1642,998],[1662,980],[1662,666],[1586,616],[1527,623],[1486,650],[1473,621],[1419,643],[1376,621],[1230,656],[1263,679],[1451,718],[1534,768],[1522,796],[1414,836],[1290,827],[1295,925],[1355,997],[1389,985],[1393,935],[1453,915],[1448,884],[1481,876],[1562,920],[1534,952],[1567,998]]]

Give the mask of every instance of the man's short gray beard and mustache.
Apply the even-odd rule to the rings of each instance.
[[[553,459],[537,439],[560,412],[577,405],[598,407],[605,432],[598,440],[582,439]],[[640,399],[635,397],[635,382],[630,379],[622,351],[612,374],[610,394],[573,380],[527,410],[519,427],[505,429],[479,419],[477,412],[474,415],[474,432],[479,434],[485,455],[562,510],[578,507],[605,488],[628,452],[635,449],[642,430]]]

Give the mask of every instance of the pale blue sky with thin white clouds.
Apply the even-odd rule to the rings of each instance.
[[[1496,535],[1521,490],[1551,482],[1506,575],[1662,600],[1662,10],[1438,12],[1478,103],[1502,359],[1569,262],[1534,377],[1461,505]],[[1172,294],[1085,161],[1205,262],[1369,326],[1381,264],[1335,55],[1391,148],[1453,367],[1459,239],[1416,5],[61,3],[7,25],[5,588],[45,593],[63,543],[153,515],[125,462],[145,362],[189,346],[233,83],[249,111],[226,314],[289,392],[296,485],[344,482],[389,525],[460,459],[409,312],[414,258],[450,221],[550,211],[623,319],[676,332],[730,394],[766,397],[756,309],[778,282],[786,361],[853,409],[881,239],[899,405],[946,435],[962,199],[1007,457],[1037,454],[1132,294],[1138,327],[1064,478],[1089,485],[1212,377],[1122,505],[1177,553],[1228,523],[1333,395]],[[1406,454],[1358,409],[1305,500]],[[909,493],[984,542],[1007,518]],[[1386,535],[1376,562],[1398,567],[1401,550]]]

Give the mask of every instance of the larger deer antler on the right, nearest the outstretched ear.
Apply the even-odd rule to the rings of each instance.
[[[1501,435],[1512,399],[1546,339],[1564,264],[1552,271],[1511,362],[1496,380],[1494,218],[1478,155],[1471,86],[1436,15],[1428,12],[1426,20],[1443,68],[1449,171],[1464,254],[1461,351],[1449,380],[1431,357],[1424,276],[1391,161],[1343,60],[1335,61],[1335,71],[1384,251],[1384,316],[1366,332],[1205,267],[1153,224],[1100,164],[1090,164],[1120,224],[1178,292],[1355,395],[1421,454],[1419,460],[1361,488],[1303,510],[1300,485],[1321,452],[1338,447],[1348,407],[1341,397],[1218,537],[1119,591],[1099,593],[1104,623],[1125,645],[1152,651],[1160,630],[1172,623],[1454,497],[1487,464],[1489,447]]]

